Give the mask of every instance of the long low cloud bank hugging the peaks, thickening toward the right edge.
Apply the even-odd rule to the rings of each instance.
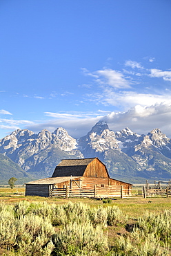
[[[105,114],[103,111],[98,112]],[[171,137],[171,102],[154,104],[148,107],[136,105],[128,109],[128,111],[112,111],[106,116],[98,116],[98,113],[94,113],[94,116],[91,115],[92,113],[84,113],[82,118],[79,117],[81,114],[73,114],[68,118],[65,115],[64,117],[59,116],[55,120],[29,125],[27,128],[38,133],[42,129],[48,129],[52,132],[58,127],[63,127],[70,136],[80,138],[85,136],[99,120],[105,120],[113,131],[120,131],[125,127],[129,127],[138,134],[148,134],[152,129],[159,128],[163,133]],[[53,117],[55,118],[55,116]]]

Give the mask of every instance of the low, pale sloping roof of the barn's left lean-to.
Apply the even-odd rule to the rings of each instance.
[[[72,179],[77,179],[80,177],[73,177]],[[46,178],[46,179],[39,179],[37,181],[30,181],[25,183],[26,185],[52,185],[57,183],[62,183],[65,181],[70,181],[71,177],[56,177],[56,178]]]

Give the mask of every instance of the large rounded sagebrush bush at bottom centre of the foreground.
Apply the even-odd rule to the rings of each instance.
[[[108,237],[91,223],[69,223],[54,235],[53,242],[52,255],[105,255],[109,250]]]

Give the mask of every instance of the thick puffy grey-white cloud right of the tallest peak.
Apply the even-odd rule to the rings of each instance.
[[[148,107],[137,105],[126,112],[111,112],[102,119],[108,122],[110,129],[114,131],[129,127],[138,134],[148,134],[152,129],[159,128],[171,137],[171,103]]]

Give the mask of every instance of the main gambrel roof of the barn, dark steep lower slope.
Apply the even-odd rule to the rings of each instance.
[[[63,159],[54,170],[52,177],[83,176],[86,167],[95,158]]]

